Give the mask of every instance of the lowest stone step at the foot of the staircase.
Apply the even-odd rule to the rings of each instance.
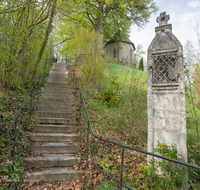
[[[72,181],[80,179],[83,171],[72,170],[69,168],[51,168],[40,172],[26,173],[27,180],[49,181]]]

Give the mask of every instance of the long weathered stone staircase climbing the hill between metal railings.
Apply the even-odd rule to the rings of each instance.
[[[34,169],[25,173],[27,180],[68,181],[82,177],[82,171],[73,169],[80,160],[74,154],[79,151],[77,142],[82,138],[76,134],[73,91],[67,85],[66,66],[55,63],[35,112],[37,124],[29,134],[28,150],[40,156],[25,159]]]

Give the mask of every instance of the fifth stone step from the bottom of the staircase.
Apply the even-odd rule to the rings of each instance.
[[[66,125],[32,125],[33,131],[35,132],[46,132],[46,133],[74,133],[77,132],[77,126],[66,126]]]

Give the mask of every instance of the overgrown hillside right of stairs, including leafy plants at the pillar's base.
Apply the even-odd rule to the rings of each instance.
[[[81,78],[80,78],[81,79]],[[96,83],[82,81],[82,90],[94,132],[105,139],[139,149],[147,149],[147,75],[128,67],[108,64],[105,74]],[[186,95],[187,95],[186,88]],[[190,94],[188,94],[190,96]],[[192,106],[187,95],[188,162],[199,164],[199,149],[195,117],[189,116]],[[191,97],[190,97],[191,98]],[[194,116],[194,113],[193,113]],[[196,138],[195,138],[196,137]],[[104,144],[90,136],[92,155],[99,167],[120,179],[121,148]],[[159,143],[156,153],[181,160],[176,145]],[[127,151],[124,182],[136,189],[198,189],[199,171],[163,160],[147,163],[146,155]],[[131,164],[130,164],[131,163]],[[138,167],[140,165],[140,167]],[[159,167],[158,167],[159,166]],[[90,165],[91,168],[92,164]],[[159,172],[162,171],[163,175]],[[187,172],[188,177],[187,178]],[[99,174],[103,175],[103,174]],[[99,176],[96,177],[100,178]],[[107,177],[101,188],[118,185]],[[89,180],[90,181],[90,180]],[[102,181],[102,180],[101,180]],[[88,189],[94,183],[88,182]]]

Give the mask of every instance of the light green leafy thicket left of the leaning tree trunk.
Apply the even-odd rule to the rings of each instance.
[[[45,32],[45,21],[49,14],[47,10],[51,2],[1,2],[0,89],[23,92],[32,84],[31,74]],[[45,62],[46,49],[38,72]]]

